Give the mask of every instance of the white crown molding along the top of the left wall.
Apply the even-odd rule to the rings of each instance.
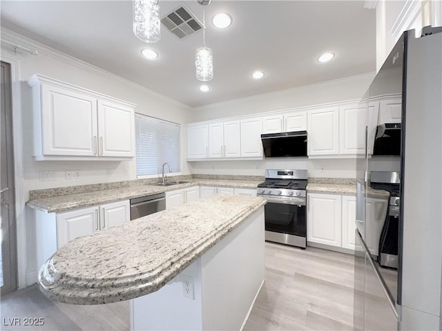
[[[46,57],[50,57],[51,59],[61,61],[63,63],[68,64],[69,66],[74,66],[74,67],[79,68],[81,70],[86,70],[88,72],[94,72],[96,74],[104,75],[106,77],[115,79],[117,81],[121,81],[122,83],[126,83],[130,86],[133,86],[134,88],[144,90],[144,91],[148,92],[149,94],[152,94],[153,96],[155,96],[159,99],[163,99],[164,101],[166,101],[168,103],[173,103],[176,106],[188,108],[189,110],[191,109],[191,106],[186,105],[185,103],[182,103],[182,102],[172,99],[170,97],[166,97],[164,94],[150,90],[150,89],[146,88],[145,86],[142,86],[142,85],[135,83],[133,81],[129,81],[128,79],[120,77],[117,74],[113,74],[112,72],[108,72],[107,70],[104,70],[104,69],[99,68],[97,66],[93,66],[92,64],[90,64],[88,62],[77,59],[76,57],[73,57],[69,54],[66,54],[64,52],[56,50],[55,48],[51,48],[50,46],[47,46],[44,43],[40,43],[39,41],[35,41],[33,39],[23,36],[22,34],[18,34],[17,32],[13,32],[13,31],[8,30],[6,28],[1,28],[0,45],[2,47],[3,47],[3,45],[2,45],[3,42],[4,42],[4,44],[6,44],[5,46],[10,47],[11,45],[14,45],[14,46],[17,46],[17,50],[26,50],[26,52],[28,52],[28,50],[35,51],[35,52],[37,52],[37,54],[41,54]]]

